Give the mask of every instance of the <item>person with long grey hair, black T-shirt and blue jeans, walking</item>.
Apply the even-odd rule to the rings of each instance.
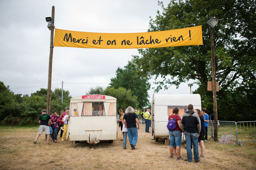
[[[129,106],[125,110],[125,115],[123,119],[125,128],[127,127],[127,133],[131,145],[131,149],[135,149],[135,145],[138,141],[138,130],[139,130],[139,121],[136,113],[134,112],[134,109]],[[138,130],[136,123],[138,124]]]

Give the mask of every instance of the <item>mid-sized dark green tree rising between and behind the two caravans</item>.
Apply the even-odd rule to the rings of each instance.
[[[131,95],[138,97],[138,107],[147,106],[149,104],[148,90],[150,83],[148,79],[138,75],[139,69],[136,64],[128,61],[124,69],[118,67],[116,77],[110,79],[110,87],[118,89],[119,87],[126,88],[131,91]]]

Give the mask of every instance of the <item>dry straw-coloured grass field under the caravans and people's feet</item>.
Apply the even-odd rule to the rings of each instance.
[[[205,158],[199,163],[176,161],[169,158],[169,146],[150,140],[151,133],[140,125],[136,150],[122,146],[122,133],[112,144],[100,142],[96,149],[88,143],[71,142],[47,145],[44,133],[33,144],[38,127],[0,126],[0,169],[256,169],[256,143],[243,143],[241,148],[208,141],[205,143]],[[181,148],[181,156],[186,158]]]

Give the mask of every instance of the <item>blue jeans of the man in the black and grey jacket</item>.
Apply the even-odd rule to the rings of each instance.
[[[195,161],[199,160],[199,151],[198,151],[198,134],[197,133],[188,133],[185,131],[185,138],[187,143],[187,158],[192,162],[192,151],[191,151],[191,142],[193,142],[194,157]]]

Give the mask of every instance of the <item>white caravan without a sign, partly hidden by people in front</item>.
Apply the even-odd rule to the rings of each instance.
[[[169,138],[167,129],[168,117],[172,109],[180,109],[179,116],[187,112],[188,105],[192,104],[194,109],[201,110],[200,94],[153,94],[151,111],[151,134],[155,141],[158,138]]]

